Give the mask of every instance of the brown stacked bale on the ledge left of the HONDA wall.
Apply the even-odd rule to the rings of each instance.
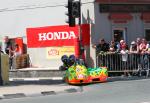
[[[13,58],[13,69],[29,67],[29,54],[22,54]]]

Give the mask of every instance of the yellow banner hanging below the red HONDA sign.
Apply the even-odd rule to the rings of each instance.
[[[72,54],[75,54],[74,46],[46,48],[46,58],[47,59],[60,59],[62,57],[62,55],[69,56]]]

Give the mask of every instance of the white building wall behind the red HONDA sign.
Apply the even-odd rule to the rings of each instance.
[[[27,44],[26,28],[67,25],[67,0],[3,0],[0,4],[0,37],[23,37]],[[82,22],[94,23],[94,1],[82,0]],[[89,20],[87,20],[89,19]],[[47,59],[46,48],[27,48],[32,64],[37,67],[58,68],[60,59]],[[93,53],[94,54],[94,53]],[[54,69],[54,68],[53,68]]]

